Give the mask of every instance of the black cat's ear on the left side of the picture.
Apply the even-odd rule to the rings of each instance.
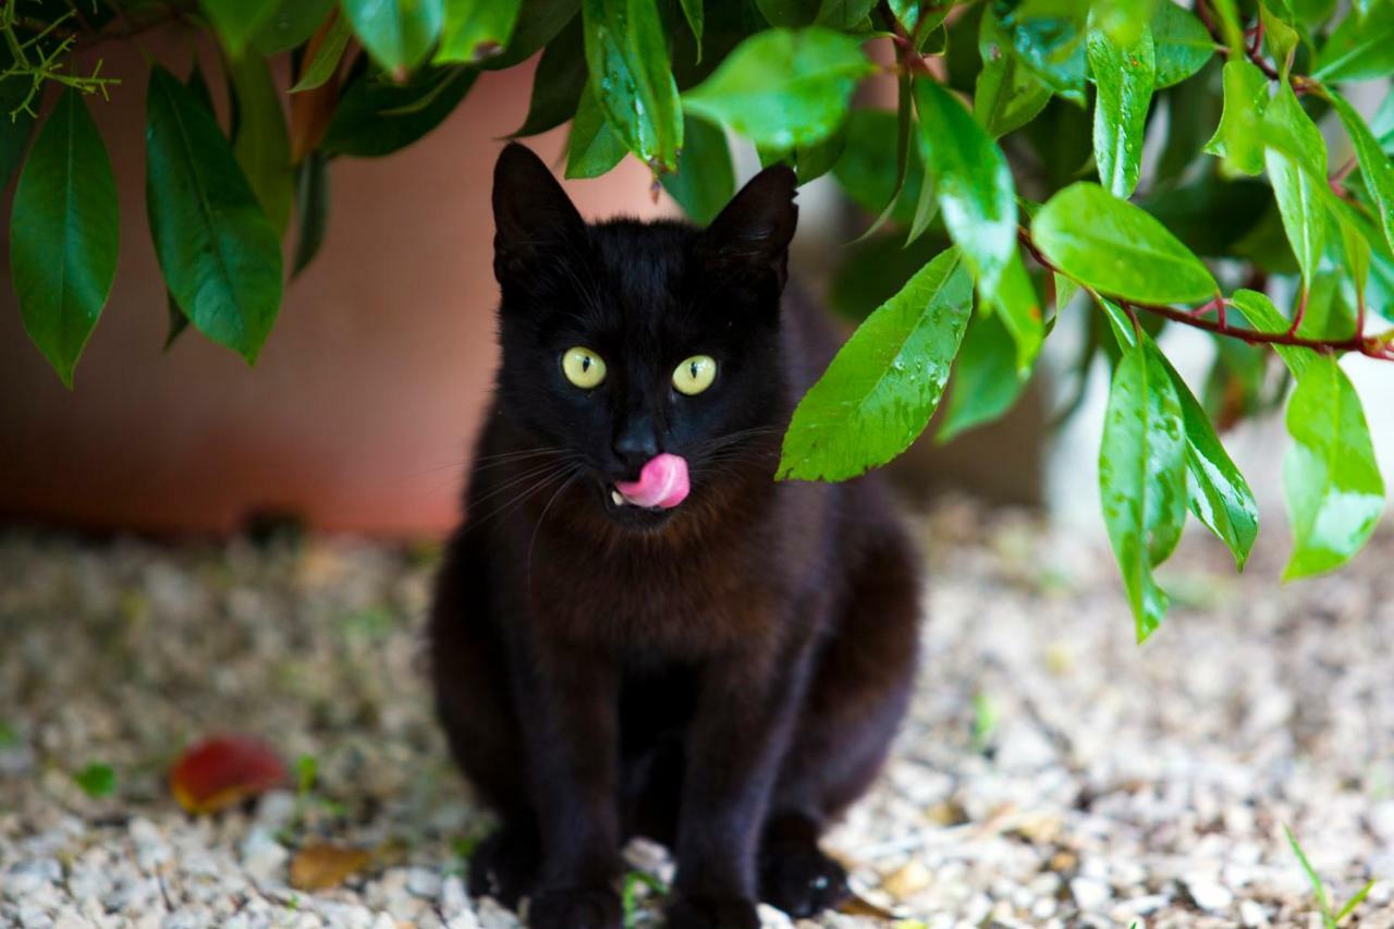
[[[505,145],[493,166],[493,275],[499,283],[584,234],[585,222],[542,159],[517,142]]]

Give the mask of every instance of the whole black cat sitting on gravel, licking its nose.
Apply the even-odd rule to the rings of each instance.
[[[495,167],[503,361],[431,649],[502,817],[471,890],[538,929],[618,928],[636,834],[676,856],[669,926],[848,894],[818,837],[905,711],[919,577],[878,477],[774,480],[836,347],[781,296],[793,195],[769,167],[705,230],[587,225],[526,148]]]

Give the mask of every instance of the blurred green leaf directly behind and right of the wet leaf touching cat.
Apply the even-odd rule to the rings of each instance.
[[[998,420],[1016,405],[1025,386],[1026,378],[1016,372],[1016,343],[1001,314],[976,314],[953,363],[953,385],[935,441],[949,442]]]

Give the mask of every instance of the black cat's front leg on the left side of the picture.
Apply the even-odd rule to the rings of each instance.
[[[577,644],[530,650],[520,675],[542,868],[533,929],[619,929],[618,677]]]

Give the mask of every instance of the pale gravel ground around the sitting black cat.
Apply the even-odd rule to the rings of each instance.
[[[965,502],[921,534],[913,718],[829,837],[861,914],[818,925],[1319,926],[1284,823],[1338,901],[1394,879],[1394,538],[1287,589],[1190,538],[1139,649],[1105,550]],[[422,686],[432,559],[0,534],[0,925],[516,926],[460,880],[488,819]],[[185,815],[166,771],[227,731],[312,756],[318,784]],[[72,777],[93,762],[110,796]],[[371,863],[297,891],[289,861],[315,841]],[[671,876],[652,847],[630,856]],[[637,897],[634,925],[657,925]],[[1394,880],[1356,919],[1394,926]]]

